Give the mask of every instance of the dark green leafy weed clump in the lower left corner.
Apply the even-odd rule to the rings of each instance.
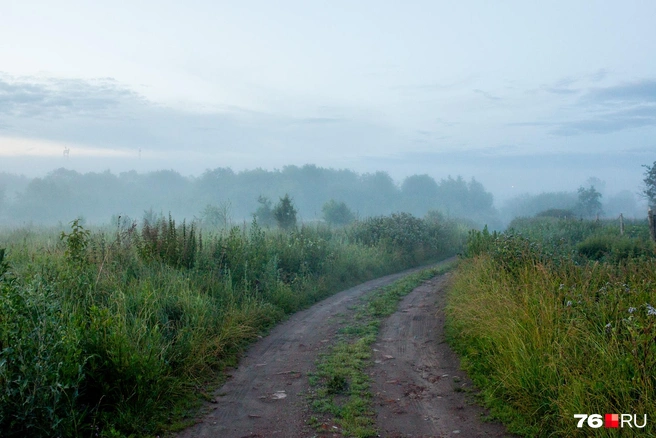
[[[8,277],[6,261],[0,265],[0,430],[8,437],[78,435],[85,356],[76,324],[52,284],[21,282]]]

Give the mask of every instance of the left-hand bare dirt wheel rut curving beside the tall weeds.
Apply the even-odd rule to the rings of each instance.
[[[357,299],[416,271],[388,275],[335,294],[292,315],[250,346],[205,415],[178,438],[308,437],[308,379],[320,351],[352,313]]]

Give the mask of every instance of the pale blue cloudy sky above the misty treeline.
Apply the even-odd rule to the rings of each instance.
[[[0,0],[0,172],[316,164],[640,191],[656,2]],[[65,154],[64,151],[68,153]]]

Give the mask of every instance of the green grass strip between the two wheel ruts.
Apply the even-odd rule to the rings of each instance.
[[[318,429],[335,424],[344,436],[378,436],[367,368],[380,323],[419,284],[452,267],[449,263],[410,274],[362,298],[354,322],[342,328],[337,344],[321,355],[316,372],[310,376],[310,399],[317,415],[312,422]]]

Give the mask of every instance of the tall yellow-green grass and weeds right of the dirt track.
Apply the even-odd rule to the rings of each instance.
[[[472,231],[447,332],[493,416],[530,437],[589,436],[574,414],[647,414],[655,436],[656,255],[646,221],[537,217]],[[642,422],[642,420],[640,420]],[[613,429],[595,436],[617,436]]]

